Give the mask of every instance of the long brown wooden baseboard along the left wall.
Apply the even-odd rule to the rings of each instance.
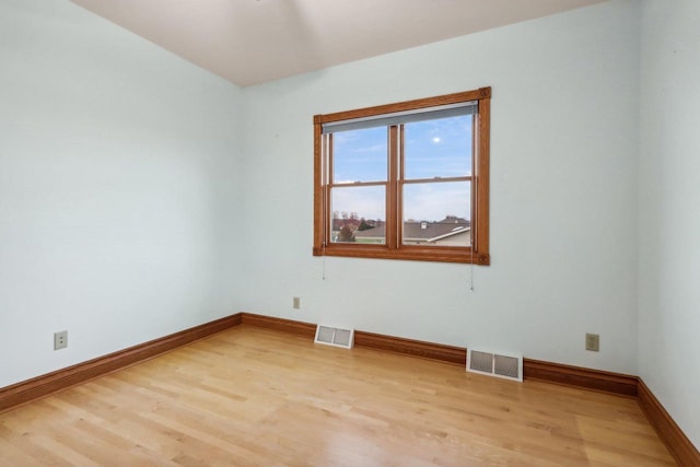
[[[32,380],[0,388],[0,412],[39,397],[48,396],[97,376],[152,359],[161,353],[226,330],[241,324],[235,314],[170,336],[154,339],[118,352],[78,363]]]

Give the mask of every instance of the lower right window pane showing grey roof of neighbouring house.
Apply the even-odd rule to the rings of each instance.
[[[469,182],[404,185],[404,245],[470,246]]]

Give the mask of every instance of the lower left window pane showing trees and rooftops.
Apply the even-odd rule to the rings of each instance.
[[[386,243],[386,187],[330,190],[330,242]]]

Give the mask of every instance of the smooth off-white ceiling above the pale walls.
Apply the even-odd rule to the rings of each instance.
[[[240,85],[604,0],[72,0]]]

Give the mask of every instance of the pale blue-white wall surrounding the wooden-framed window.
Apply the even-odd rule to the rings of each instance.
[[[638,71],[638,4],[616,1],[246,89],[244,310],[637,374]],[[486,85],[474,292],[469,266],[312,257],[314,114]]]

